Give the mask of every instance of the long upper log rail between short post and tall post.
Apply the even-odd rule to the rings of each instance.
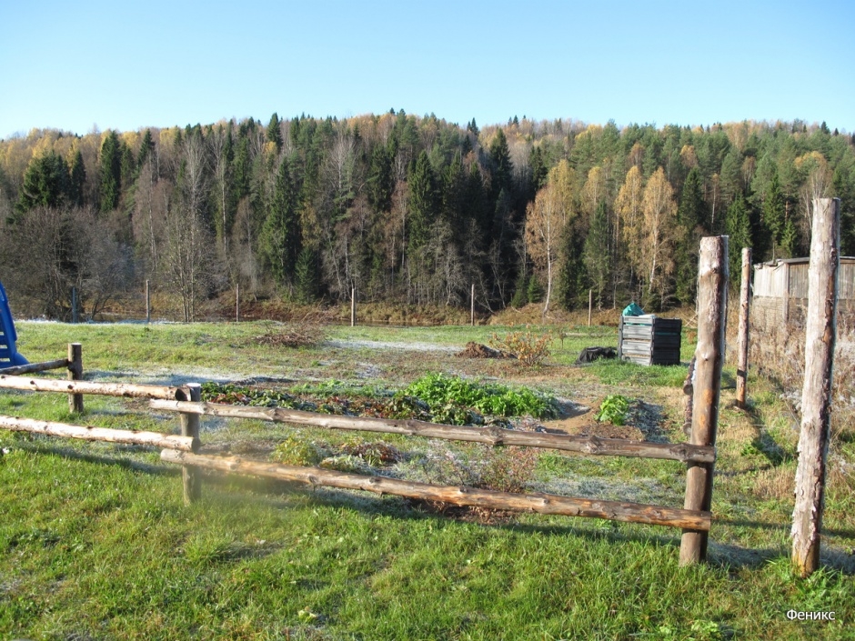
[[[369,416],[336,416],[304,412],[283,407],[252,407],[220,405],[217,403],[188,403],[181,401],[152,400],[152,409],[220,416],[229,418],[255,418],[274,423],[312,425],[327,429],[361,430],[424,436],[446,440],[486,443],[490,446],[528,446],[579,452],[601,456],[635,456],[659,458],[683,463],[711,463],[715,461],[715,447],[692,446],[688,443],[648,443],[599,436],[568,436],[544,432],[521,432],[499,427],[448,426],[426,421],[394,420]]]

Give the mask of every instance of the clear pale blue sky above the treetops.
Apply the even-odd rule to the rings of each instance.
[[[252,116],[855,132],[855,2],[0,0],[0,137]]]

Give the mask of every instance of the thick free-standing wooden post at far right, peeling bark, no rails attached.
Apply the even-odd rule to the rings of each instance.
[[[792,562],[801,576],[810,576],[820,567],[839,266],[840,199],[819,198],[813,201],[805,380],[801,390],[796,505],[792,513]]]

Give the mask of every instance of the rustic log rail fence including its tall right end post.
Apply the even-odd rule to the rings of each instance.
[[[712,475],[715,462],[716,426],[721,365],[724,353],[724,319],[728,280],[728,239],[726,236],[704,238],[699,261],[699,328],[695,353],[695,395],[693,400],[692,433],[689,443],[660,444],[596,436],[566,436],[538,432],[522,432],[498,427],[448,426],[416,420],[389,420],[371,417],[329,416],[289,410],[229,406],[201,402],[201,386],[185,387],[102,384],[79,380],[83,374],[81,350],[78,344],[69,346],[69,358],[55,361],[54,366],[69,369],[70,381],[36,379],[0,371],[0,388],[35,392],[62,392],[70,398],[84,394],[135,396],[149,399],[149,406],[180,415],[181,436],[152,432],[101,429],[91,426],[66,426],[0,417],[0,427],[40,433],[102,440],[163,448],[161,459],[183,466],[184,497],[191,503],[201,496],[200,469],[236,474],[267,476],[287,481],[299,481],[312,486],[332,486],[361,489],[379,494],[407,496],[440,501],[458,506],[480,506],[495,509],[531,511],[541,514],[588,516],[629,523],[679,527],[683,530],[680,563],[688,565],[706,557],[712,514]],[[62,365],[57,365],[57,364]],[[46,368],[46,367],[45,367]],[[32,371],[32,370],[28,370]],[[70,401],[71,402],[71,401]],[[72,405],[82,411],[82,400]],[[79,408],[79,409],[78,409]],[[423,436],[447,440],[484,443],[490,446],[528,446],[556,449],[592,456],[635,456],[666,459],[687,465],[686,496],[682,508],[652,506],[639,503],[574,498],[545,493],[510,493],[459,486],[438,486],[427,483],[337,472],[320,467],[284,466],[264,461],[247,460],[238,456],[199,454],[199,422],[201,416],[250,418],[291,425],[311,425],[327,429],[361,430]]]

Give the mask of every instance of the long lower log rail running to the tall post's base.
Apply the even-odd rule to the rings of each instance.
[[[709,530],[712,520],[712,515],[709,512],[696,510],[647,506],[639,503],[598,501],[543,493],[523,495],[473,487],[433,486],[428,483],[403,481],[385,476],[362,476],[320,467],[283,466],[261,461],[249,461],[238,456],[201,456],[164,450],[160,457],[168,463],[176,463],[182,466],[193,465],[222,472],[299,481],[312,486],[367,490],[377,494],[442,501],[455,506],[478,506],[490,509],[538,512],[539,514],[588,516],[611,521],[683,527],[703,531]]]

